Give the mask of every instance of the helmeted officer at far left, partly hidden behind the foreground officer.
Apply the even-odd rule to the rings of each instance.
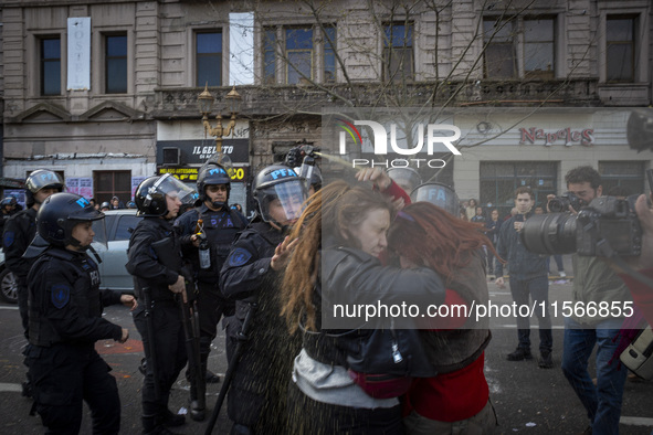
[[[25,335],[28,332],[28,274],[32,261],[23,253],[36,235],[36,212],[41,203],[53,193],[62,192],[61,176],[48,169],[36,169],[25,181],[27,209],[15,213],[4,224],[2,234],[7,268],[13,273],[18,286],[18,309]]]

